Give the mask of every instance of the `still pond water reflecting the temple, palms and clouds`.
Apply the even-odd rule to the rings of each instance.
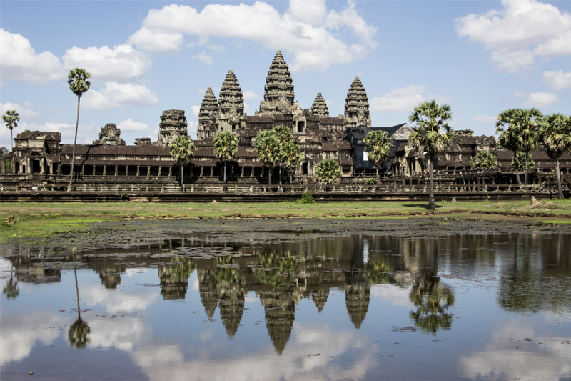
[[[1,378],[571,380],[569,234],[298,238],[5,247]]]

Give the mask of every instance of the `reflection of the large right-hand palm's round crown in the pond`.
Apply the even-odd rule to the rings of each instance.
[[[410,301],[416,306],[410,317],[424,333],[436,335],[439,329],[450,330],[452,315],[448,314],[448,307],[454,304],[454,293],[439,277],[432,272],[418,277],[410,290]]]

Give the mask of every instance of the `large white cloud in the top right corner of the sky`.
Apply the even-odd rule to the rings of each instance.
[[[571,54],[571,14],[536,0],[503,0],[503,9],[455,20],[456,33],[491,51],[499,71],[514,73],[536,56]]]

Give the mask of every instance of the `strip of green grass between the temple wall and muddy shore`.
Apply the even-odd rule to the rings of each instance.
[[[113,219],[115,215],[137,214],[178,215],[187,217],[216,217],[233,212],[241,214],[311,214],[338,213],[340,218],[345,213],[383,213],[383,212],[425,212],[428,204],[413,202],[335,202],[318,204],[298,204],[295,202],[268,203],[218,203],[206,204],[196,202],[182,203],[36,203],[36,202],[3,202],[0,204],[0,243],[11,237],[45,236],[54,232],[81,230],[89,227],[91,222]],[[531,208],[530,202],[437,202],[436,210],[485,210],[494,212],[547,212],[554,214],[571,214],[571,200],[554,200],[546,205],[542,202]],[[62,214],[71,214],[64,217]],[[458,214],[457,214],[458,215]],[[7,224],[6,218],[19,218],[15,224]],[[471,214],[470,218],[485,218],[485,214]],[[502,216],[502,219],[509,217]],[[562,222],[566,220],[553,221]],[[551,222],[551,221],[550,221]]]

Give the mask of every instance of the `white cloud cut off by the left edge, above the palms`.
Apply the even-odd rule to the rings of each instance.
[[[36,54],[29,39],[0,29],[1,79],[46,85],[66,77],[58,57],[50,51]]]

